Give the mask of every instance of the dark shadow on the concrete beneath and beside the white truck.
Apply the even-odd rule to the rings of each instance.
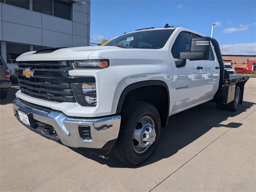
[[[146,165],[150,165],[154,162],[160,161],[161,159],[165,159],[174,155],[180,149],[186,147],[187,145],[207,133],[213,127],[220,127],[220,129],[223,129],[223,127],[240,127],[242,124],[239,123],[239,120],[234,120],[234,122],[227,124],[223,123],[223,121],[226,121],[229,117],[235,117],[242,112],[249,110],[254,105],[255,103],[244,101],[236,112],[230,112],[218,110],[215,106],[215,103],[207,102],[171,116],[169,118],[168,126],[166,128],[162,128],[161,130],[160,141],[158,142],[154,153],[152,154],[150,159],[148,159],[148,161],[144,162],[138,167],[132,167],[121,163],[114,157],[113,153],[110,153],[108,155],[80,154],[86,158],[97,161],[100,164],[108,165],[109,167],[144,167]],[[218,135],[216,136],[216,138],[217,137]],[[210,141],[207,144],[202,144],[202,146],[206,146],[209,143]]]

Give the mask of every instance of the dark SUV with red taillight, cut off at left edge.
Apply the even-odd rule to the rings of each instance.
[[[10,81],[10,71],[0,56],[0,98],[4,99],[7,96],[8,88],[12,85]]]

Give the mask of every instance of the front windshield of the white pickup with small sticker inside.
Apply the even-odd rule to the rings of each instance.
[[[128,49],[160,49],[164,47],[173,31],[174,29],[137,31],[120,35],[102,46],[116,46]]]

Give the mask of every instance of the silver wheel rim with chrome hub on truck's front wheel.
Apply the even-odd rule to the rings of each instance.
[[[136,153],[144,153],[156,140],[155,124],[152,118],[145,116],[136,124],[132,135],[132,147]]]

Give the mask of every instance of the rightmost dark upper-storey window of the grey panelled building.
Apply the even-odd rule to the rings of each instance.
[[[53,1],[53,15],[59,18],[70,20],[71,4],[65,1]]]

